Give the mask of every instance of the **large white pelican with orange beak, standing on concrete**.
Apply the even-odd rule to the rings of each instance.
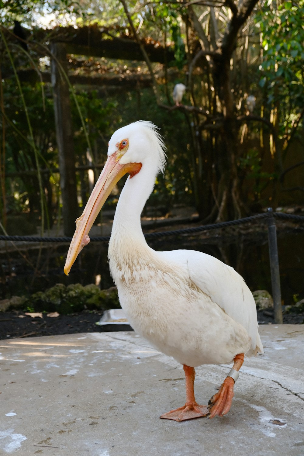
[[[194,250],[155,252],[145,241],[140,214],[165,166],[165,145],[151,122],[117,130],[108,160],[82,216],[76,221],[64,272],[68,275],[111,189],[129,177],[119,197],[108,248],[111,274],[131,326],[158,350],[182,364],[186,403],[161,418],[188,420],[225,415],[244,354],[263,352],[257,312],[244,280],[230,266]],[[232,363],[209,406],[194,398],[196,366]]]

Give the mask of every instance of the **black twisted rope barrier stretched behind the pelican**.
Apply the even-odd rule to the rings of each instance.
[[[271,212],[274,218],[282,220],[293,220],[294,222],[304,222],[304,216],[284,214],[282,212]],[[182,234],[200,233],[201,231],[211,231],[216,228],[226,228],[230,226],[242,225],[258,219],[269,218],[269,212],[262,214],[252,215],[251,217],[239,218],[238,220],[229,220],[227,222],[212,223],[210,225],[201,225],[199,227],[181,228],[173,231],[158,231],[156,233],[146,233],[146,239],[158,238],[164,236],[178,236]],[[90,238],[91,242],[108,242],[110,236],[94,236]],[[54,242],[54,243],[69,243],[72,238],[69,237],[41,237],[41,236],[4,236],[0,235],[0,241],[14,241],[14,242]]]

